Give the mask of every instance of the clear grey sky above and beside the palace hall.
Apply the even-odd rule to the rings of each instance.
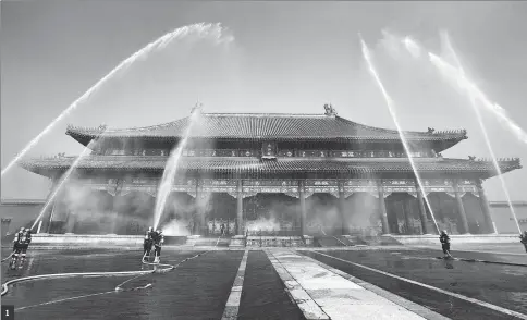
[[[183,39],[117,74],[44,136],[26,157],[79,155],[68,124],[146,126],[206,112],[323,113],[395,128],[361,57],[370,47],[404,130],[466,128],[444,157],[490,157],[469,100],[425,59],[382,30],[442,52],[446,30],[471,78],[527,128],[525,1],[3,1],[1,2],[1,167],[122,60],[175,28],[221,23],[234,41]],[[483,110],[483,109],[482,109]],[[481,111],[497,157],[527,161],[527,145]],[[513,200],[527,200],[526,169],[504,175]],[[490,200],[505,200],[497,177]],[[49,181],[14,168],[1,197],[45,198]]]

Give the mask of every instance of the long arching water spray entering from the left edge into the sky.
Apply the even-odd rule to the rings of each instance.
[[[30,140],[24,147],[24,149],[22,149],[22,151],[20,151],[19,155],[16,155],[16,157],[14,157],[13,160],[11,160],[11,162],[9,162],[9,164],[4,169],[2,169],[1,176],[3,176],[13,167],[14,163],[16,163],[22,157],[24,157],[24,155],[26,155],[30,149],[33,149],[36,146],[36,144],[47,133],[49,133],[53,128],[53,126],[57,125],[57,123],[59,123],[70,112],[75,110],[79,104],[85,102],[93,94],[95,94],[107,82],[112,79],[119,72],[127,70],[134,62],[136,62],[139,59],[146,59],[149,53],[159,49],[163,49],[175,39],[181,39],[188,35],[197,34],[199,37],[212,37],[217,44],[230,42],[234,39],[232,36],[223,36],[222,30],[223,28],[221,24],[210,24],[210,23],[209,24],[199,23],[199,24],[193,24],[193,25],[180,27],[173,32],[166,34],[164,36],[158,38],[157,40],[148,44],[143,49],[130,56],[121,63],[119,63],[119,65],[115,66],[112,71],[110,71],[110,73],[108,73],[106,76],[99,79],[86,93],[84,93],[84,95],[82,95],[78,99],[73,101],[73,103],[70,104],[70,107],[68,107],[64,111],[62,111],[62,113],[59,114],[59,116],[57,116],[41,133],[39,133],[33,140]]]

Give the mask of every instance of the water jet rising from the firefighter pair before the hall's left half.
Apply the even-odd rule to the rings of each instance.
[[[159,221],[161,220],[167,199],[170,195],[170,192],[172,190],[172,184],[174,183],[175,173],[177,172],[180,165],[180,159],[182,157],[183,149],[185,149],[188,143],[188,138],[194,132],[199,118],[200,112],[196,109],[188,118],[188,126],[186,127],[182,139],[170,152],[169,160],[167,161],[167,165],[164,167],[163,176],[161,177],[161,182],[159,184],[158,195],[156,197],[156,209],[154,211],[154,230],[157,230],[159,225]]]

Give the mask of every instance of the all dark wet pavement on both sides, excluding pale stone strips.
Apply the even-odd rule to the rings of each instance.
[[[278,249],[271,249],[274,250]],[[161,262],[175,264],[199,253],[164,248]],[[312,251],[302,253],[452,319],[514,319]],[[527,313],[527,267],[444,261],[436,259],[442,256],[440,250],[408,247],[382,250],[324,249],[321,253]],[[2,257],[9,254],[9,249],[2,249]],[[2,304],[15,305],[15,319],[221,319],[243,255],[243,250],[208,251],[173,271],[143,275],[124,286],[126,290],[152,284],[149,288],[138,291],[114,291],[118,284],[132,276],[17,283],[9,287]],[[454,250],[454,255],[470,259],[527,262],[527,256],[517,254]],[[8,263],[2,263],[2,283],[35,274],[149,270],[151,267],[142,266],[140,256],[139,250],[32,250],[21,270],[8,270]],[[238,317],[304,319],[265,251],[248,253]]]

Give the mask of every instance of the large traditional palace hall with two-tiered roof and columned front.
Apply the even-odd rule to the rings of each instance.
[[[322,110],[321,110],[322,111]],[[482,183],[491,160],[443,157],[466,131],[403,132],[320,114],[205,113],[183,146],[160,226],[182,235],[381,235],[494,233]],[[171,152],[192,115],[133,128],[69,126],[90,149],[64,180],[40,232],[143,234]],[[76,157],[26,159],[51,180],[50,196]],[[420,176],[417,181],[410,159]],[[501,173],[522,168],[499,160]],[[433,217],[432,217],[433,214]]]

